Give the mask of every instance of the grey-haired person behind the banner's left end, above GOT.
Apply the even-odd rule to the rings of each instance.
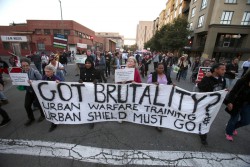
[[[58,76],[55,75],[56,69],[55,69],[55,67],[53,65],[50,64],[50,65],[45,66],[44,72],[45,72],[45,75],[43,76],[42,80],[56,81],[56,82],[61,81],[61,78],[59,78]],[[52,132],[53,130],[55,130],[56,127],[57,127],[56,124],[51,123],[51,126],[49,128],[49,132]]]

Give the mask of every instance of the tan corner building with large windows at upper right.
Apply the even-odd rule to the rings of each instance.
[[[249,0],[191,0],[188,21],[192,56],[250,57]]]

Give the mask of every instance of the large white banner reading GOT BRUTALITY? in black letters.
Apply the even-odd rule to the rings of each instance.
[[[32,86],[46,119],[55,124],[121,120],[197,134],[209,132],[227,93],[154,84],[33,81]]]

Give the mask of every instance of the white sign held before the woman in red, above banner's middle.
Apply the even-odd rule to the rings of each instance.
[[[133,81],[135,75],[134,68],[123,68],[115,70],[115,82]]]

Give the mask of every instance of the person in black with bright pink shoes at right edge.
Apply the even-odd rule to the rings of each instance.
[[[235,83],[224,103],[231,116],[226,127],[226,139],[233,141],[233,135],[238,134],[236,129],[250,124],[250,70]]]

